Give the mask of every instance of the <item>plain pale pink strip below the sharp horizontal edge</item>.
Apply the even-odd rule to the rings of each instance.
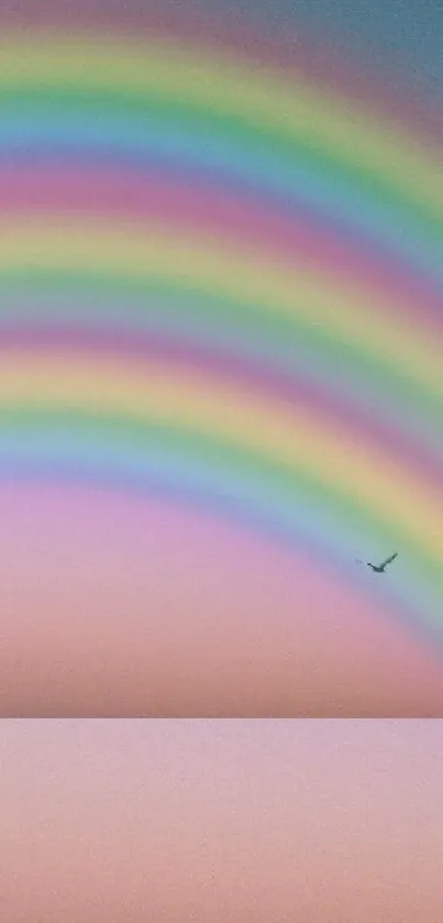
[[[8,923],[440,923],[442,722],[2,722]]]

